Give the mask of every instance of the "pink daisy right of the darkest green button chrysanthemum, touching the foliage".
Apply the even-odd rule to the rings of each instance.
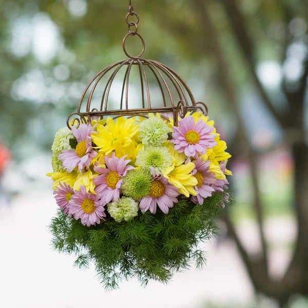
[[[172,185],[160,172],[156,172],[153,167],[150,168],[153,182],[149,196],[142,198],[139,207],[142,213],[150,209],[150,212],[155,214],[158,205],[164,214],[168,214],[169,207],[173,207],[175,203],[178,203],[179,188]]]

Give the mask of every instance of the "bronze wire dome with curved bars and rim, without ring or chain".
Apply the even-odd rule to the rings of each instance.
[[[125,71],[124,80],[123,80],[120,109],[118,109],[118,110],[108,110],[108,98],[109,98],[109,93],[110,93],[112,83],[114,81],[115,75],[117,75],[119,70],[124,65],[127,65],[127,69]],[[142,92],[142,108],[128,109],[129,75],[130,75],[130,72],[131,72],[132,65],[138,65],[138,69],[139,69],[140,82],[141,82],[141,92]],[[161,93],[162,93],[162,97],[163,97],[163,101],[164,101],[164,107],[155,107],[155,108],[151,107],[149,83],[148,83],[148,79],[147,79],[147,75],[146,75],[144,65],[146,65],[155,76],[155,79],[156,79],[156,81],[159,85],[159,88],[161,90]],[[104,88],[100,110],[98,110],[97,108],[93,108],[90,111],[91,100],[92,100],[95,88],[97,87],[98,83],[103,78],[103,76],[113,68],[115,68],[115,69],[111,73],[111,75],[110,75],[110,77],[109,77],[109,79],[108,79],[108,81],[105,85],[105,88]],[[179,101],[178,101],[177,105],[175,105],[175,103],[174,103],[175,100],[174,100],[174,98],[172,98],[170,88],[167,84],[167,80],[165,79],[164,75],[167,76],[167,80],[171,81],[172,85],[175,87],[175,89],[176,89],[176,91],[179,95]],[[82,105],[82,102],[84,100],[84,97],[85,97],[88,89],[90,88],[90,86],[92,85],[92,83],[94,81],[95,81],[95,83],[94,83],[94,85],[93,85],[93,87],[90,91],[89,98],[88,98],[88,101],[87,101],[86,112],[80,112],[81,105]],[[169,107],[167,107],[164,87],[166,88],[166,90],[168,92],[169,99],[170,99],[171,106],[169,106]],[[123,109],[124,89],[125,89],[125,109]],[[186,92],[184,91],[184,89],[186,90],[186,92],[189,95],[191,105],[188,104]],[[145,92],[146,92],[147,101],[148,101],[148,108],[145,108]],[[77,121],[78,122],[77,124],[78,124],[78,127],[79,127],[81,122],[84,122],[84,123],[87,122],[86,117],[88,118],[88,122],[91,121],[92,116],[99,116],[99,117],[103,118],[104,115],[115,115],[116,116],[115,118],[123,117],[125,115],[127,115],[128,117],[140,115],[141,117],[146,118],[147,116],[145,114],[146,113],[152,113],[152,112],[153,113],[154,112],[172,112],[172,114],[174,115],[174,119],[175,119],[175,125],[177,125],[176,123],[177,123],[177,120],[178,120],[178,114],[180,115],[180,117],[183,117],[184,112],[186,112],[186,111],[194,112],[197,109],[200,109],[200,110],[203,111],[203,113],[205,115],[207,114],[207,111],[208,111],[207,106],[202,102],[198,102],[197,104],[195,102],[194,96],[192,95],[188,85],[185,83],[185,81],[174,70],[170,69],[166,65],[159,63],[157,61],[146,60],[146,59],[143,59],[141,57],[138,57],[138,58],[136,57],[135,59],[127,59],[127,60],[122,60],[122,61],[113,63],[113,64],[107,66],[106,68],[104,68],[103,70],[101,70],[98,74],[96,74],[94,76],[94,78],[86,86],[86,88],[85,88],[85,90],[82,94],[82,97],[81,97],[79,105],[78,105],[78,111],[69,115],[69,117],[67,119],[67,125],[70,128],[70,123],[69,123],[70,121],[69,120],[70,120],[70,118],[72,117],[73,114],[79,115],[79,117],[80,117],[80,119],[74,118],[73,122],[72,122],[73,124],[75,124],[76,121]],[[163,117],[163,118],[165,118],[165,120],[169,121],[166,117]]]

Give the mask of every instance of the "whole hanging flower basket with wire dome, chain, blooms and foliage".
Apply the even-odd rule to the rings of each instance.
[[[129,15],[137,22],[128,22]],[[54,248],[74,255],[76,266],[93,263],[106,288],[131,277],[143,285],[151,279],[166,283],[194,263],[202,266],[198,245],[217,234],[216,218],[229,202],[230,155],[207,107],[195,102],[176,72],[141,57],[144,41],[131,6],[126,22],[123,49],[129,59],[109,65],[87,85],[77,112],[55,134],[48,174],[59,205],[50,224]],[[129,35],[142,40],[139,56],[126,52]],[[130,107],[133,69],[139,72],[142,108]],[[122,71],[120,108],[112,109],[109,94]],[[94,91],[108,74],[93,108]],[[148,74],[163,107],[151,106]]]

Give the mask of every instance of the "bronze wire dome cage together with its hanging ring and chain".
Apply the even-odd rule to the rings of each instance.
[[[129,22],[128,17],[136,16],[136,22]],[[192,95],[186,82],[171,68],[154,60],[144,59],[142,56],[145,50],[145,42],[143,37],[138,33],[139,16],[133,11],[131,2],[129,3],[129,13],[125,17],[128,24],[128,33],[124,36],[122,47],[128,59],[113,63],[99,73],[97,73],[86,86],[76,112],[71,113],[67,118],[67,126],[79,127],[80,123],[91,122],[93,119],[103,119],[105,116],[111,116],[113,119],[119,117],[144,117],[148,118],[148,113],[160,112],[161,117],[168,120],[168,116],[174,119],[174,125],[178,124],[178,117],[184,118],[185,114],[195,112],[198,109],[207,115],[207,106],[202,102],[197,102]],[[130,28],[134,27],[132,31]],[[142,42],[142,51],[137,56],[128,54],[125,48],[125,42],[128,36],[138,36]],[[130,77],[132,71],[138,71],[140,84],[141,103],[139,108],[132,107],[130,93]],[[124,72],[124,76],[123,76]],[[122,75],[123,83],[121,86],[120,104],[117,109],[113,109],[114,104],[110,103],[111,88],[114,86],[114,81],[119,80]],[[103,84],[104,80],[107,81]],[[136,79],[136,74],[134,75]],[[154,106],[151,103],[153,93],[151,92],[150,82],[159,89],[160,94],[155,91],[155,98],[159,100],[160,106]],[[100,85],[100,86],[99,86]],[[98,89],[102,89],[102,94],[99,95],[99,104],[94,104],[94,93],[97,94]],[[114,87],[113,87],[114,88]],[[96,90],[96,91],[95,91]],[[119,92],[119,87],[118,90]],[[97,95],[96,95],[97,96]],[[95,107],[93,106],[95,105]],[[85,109],[85,111],[83,111]]]

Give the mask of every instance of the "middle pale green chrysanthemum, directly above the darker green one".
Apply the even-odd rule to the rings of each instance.
[[[171,166],[172,158],[168,149],[164,146],[149,146],[139,151],[136,165],[141,167],[154,167],[156,171],[165,171]]]

